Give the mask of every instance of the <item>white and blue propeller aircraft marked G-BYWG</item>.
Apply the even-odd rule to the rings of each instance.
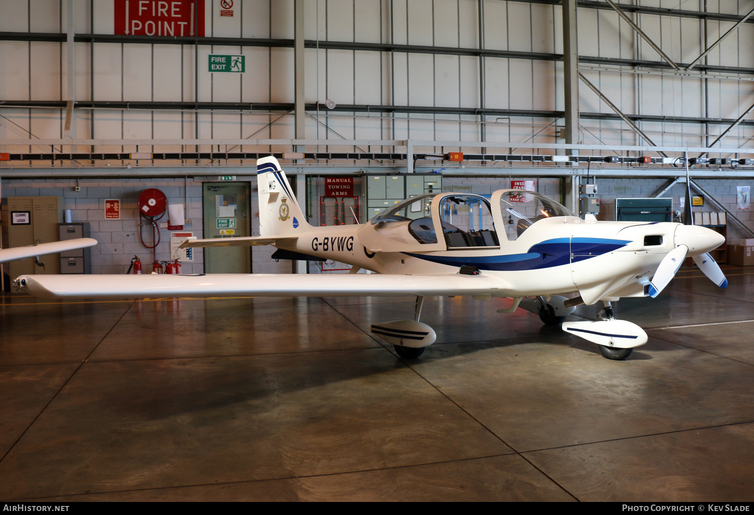
[[[728,284],[709,252],[723,236],[671,222],[582,220],[538,193],[497,190],[412,197],[360,225],[312,227],[274,157],[257,161],[259,234],[188,239],[182,246],[274,245],[274,257],[334,260],[349,274],[199,274],[20,276],[14,285],[38,297],[397,296],[416,297],[413,319],[372,325],[372,333],[404,358],[434,343],[419,321],[427,296],[512,297],[509,309],[537,313],[547,325],[599,346],[621,360],[647,341],[630,321],[617,320],[621,297],[656,297],[686,256],[716,285]],[[361,269],[373,274],[357,274]],[[575,294],[573,298],[565,297]],[[580,304],[602,303],[598,321],[567,321]]]

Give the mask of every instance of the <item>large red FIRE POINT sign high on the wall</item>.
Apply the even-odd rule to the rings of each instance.
[[[115,34],[204,37],[204,0],[115,0]]]

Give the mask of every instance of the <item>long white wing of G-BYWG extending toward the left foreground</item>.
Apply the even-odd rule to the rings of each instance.
[[[351,295],[486,295],[510,297],[500,279],[481,274],[433,276],[396,274],[238,274],[197,275],[29,275],[14,286],[35,297],[322,297]]]

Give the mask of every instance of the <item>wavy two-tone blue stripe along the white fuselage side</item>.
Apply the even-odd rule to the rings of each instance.
[[[538,270],[559,267],[573,261],[584,261],[597,257],[630,243],[624,239],[601,238],[556,238],[532,245],[524,254],[501,254],[494,256],[440,256],[437,254],[403,254],[418,257],[425,261],[445,264],[451,267],[464,265],[477,267],[479,270]],[[456,250],[463,250],[457,248]],[[572,258],[571,254],[575,254]]]

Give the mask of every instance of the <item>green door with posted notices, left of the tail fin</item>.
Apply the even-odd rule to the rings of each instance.
[[[247,182],[204,183],[204,238],[250,236]],[[205,273],[251,273],[251,248],[205,247]]]

